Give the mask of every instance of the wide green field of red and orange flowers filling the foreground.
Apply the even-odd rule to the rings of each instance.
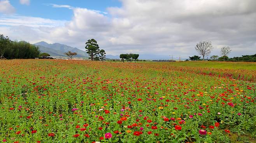
[[[0,142],[255,142],[255,73],[170,63],[1,60]]]

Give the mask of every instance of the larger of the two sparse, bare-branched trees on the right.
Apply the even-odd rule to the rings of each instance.
[[[196,51],[203,56],[203,60],[204,57],[209,55],[212,48],[212,42],[211,41],[201,41],[199,43],[196,44],[195,47]]]

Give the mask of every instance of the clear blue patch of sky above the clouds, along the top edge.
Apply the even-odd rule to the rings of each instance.
[[[42,17],[46,19],[71,20],[73,12],[67,8],[54,8],[50,4],[70,5],[105,12],[107,7],[120,7],[118,0],[30,0],[30,4],[21,4],[19,0],[10,0],[16,14],[22,16]]]

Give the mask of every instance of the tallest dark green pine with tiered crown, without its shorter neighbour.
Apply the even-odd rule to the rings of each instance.
[[[99,54],[99,45],[94,39],[89,39],[86,43],[86,53],[89,54],[89,59],[94,60],[94,57]]]

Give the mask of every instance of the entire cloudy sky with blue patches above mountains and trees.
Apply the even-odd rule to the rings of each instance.
[[[237,57],[256,53],[256,0],[0,0],[0,34],[81,50],[94,38],[107,55],[174,59],[211,41],[209,57],[224,46]]]

